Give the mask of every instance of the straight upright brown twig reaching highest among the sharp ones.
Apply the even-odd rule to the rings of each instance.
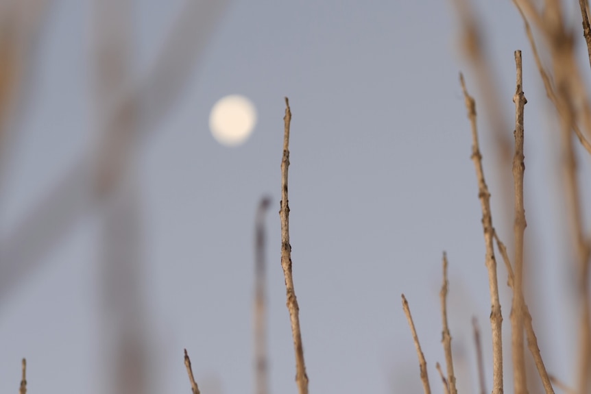
[[[513,351],[513,379],[516,394],[527,393],[525,354],[523,343],[523,236],[527,222],[523,208],[523,175],[525,171],[523,143],[523,112],[527,103],[523,93],[521,51],[515,51],[517,87],[515,103],[515,154],[513,156],[513,179],[515,188],[515,279],[513,305],[511,306],[511,349]]]

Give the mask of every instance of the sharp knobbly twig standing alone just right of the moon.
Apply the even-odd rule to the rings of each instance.
[[[298,383],[300,394],[308,394],[308,375],[304,362],[304,347],[302,346],[302,333],[300,332],[300,307],[295,298],[293,288],[293,276],[291,275],[291,244],[289,243],[289,200],[287,199],[287,169],[289,167],[289,125],[291,123],[291,109],[289,99],[285,97],[285,132],[283,136],[283,158],[281,160],[281,267],[285,275],[285,288],[287,290],[287,310],[291,320],[291,334],[293,335],[293,348],[295,349],[295,381]]]

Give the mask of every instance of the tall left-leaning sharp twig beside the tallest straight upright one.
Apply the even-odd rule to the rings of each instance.
[[[478,143],[478,131],[476,122],[476,103],[466,90],[463,75],[460,74],[460,84],[466,101],[468,118],[472,127],[472,161],[476,169],[479,184],[479,199],[482,207],[482,226],[484,230],[484,243],[486,247],[486,267],[488,270],[488,283],[490,288],[490,325],[492,329],[492,393],[503,394],[503,336],[501,325],[503,315],[500,312],[498,297],[498,280],[496,274],[496,260],[494,258],[492,215],[490,211],[490,193],[484,180],[482,156]]]

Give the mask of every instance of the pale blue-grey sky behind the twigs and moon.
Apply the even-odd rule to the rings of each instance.
[[[134,84],[156,61],[184,1],[130,3]],[[53,0],[40,20],[21,112],[2,151],[3,239],[100,140],[94,7],[91,1]],[[527,301],[548,371],[574,382],[575,297],[553,112],[514,6],[477,1],[475,8],[509,136],[514,50],[523,50]],[[280,267],[285,96],[293,112],[293,275],[310,392],[421,391],[400,293],[409,300],[432,389],[442,392],[435,362],[444,363],[439,312],[444,250],[459,389],[477,390],[473,316],[482,330],[490,387],[490,297],[459,71],[466,73],[479,114],[484,110],[461,54],[452,3],[233,0],[198,10],[195,23],[211,24],[195,29],[204,45],[169,110],[153,124],[147,121],[153,130],[138,142],[134,176],[125,181],[135,185],[141,212],[142,264],[136,274],[150,371],[147,393],[189,393],[183,348],[202,393],[254,389],[254,218],[263,195],[272,197],[266,219],[270,389],[297,391]],[[579,29],[577,12],[566,14]],[[586,48],[582,39],[578,44],[588,78]],[[213,104],[230,94],[249,97],[258,111],[254,134],[234,148],[217,143],[208,127]],[[484,116],[479,125],[494,225],[511,245],[511,221],[502,220],[511,215],[501,201],[500,167]],[[585,156],[581,167],[588,164]],[[583,170],[581,179],[588,179]],[[0,292],[1,393],[16,393],[23,357],[30,393],[112,392],[106,334],[111,323],[104,311],[111,290],[101,280],[97,212],[80,215],[22,278],[0,271],[3,283],[10,282]],[[511,304],[500,256],[498,267],[510,393]]]

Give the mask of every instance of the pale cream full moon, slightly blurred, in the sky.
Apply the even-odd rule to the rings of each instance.
[[[256,124],[256,108],[246,97],[230,95],[215,103],[209,114],[209,128],[221,145],[235,147],[244,143]]]

